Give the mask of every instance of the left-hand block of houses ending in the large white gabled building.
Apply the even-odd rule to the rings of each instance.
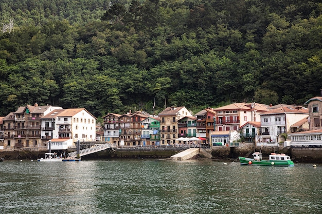
[[[84,108],[58,106],[19,107],[0,118],[0,149],[67,149],[76,141],[96,140],[96,118]]]

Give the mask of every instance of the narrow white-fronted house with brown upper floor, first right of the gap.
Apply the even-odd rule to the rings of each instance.
[[[112,143],[120,145],[120,121],[121,114],[109,113],[103,116],[104,120],[104,141],[106,143]]]

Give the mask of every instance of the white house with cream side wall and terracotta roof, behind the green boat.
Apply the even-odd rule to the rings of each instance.
[[[307,118],[308,115],[307,108],[285,106],[261,113],[261,132],[258,135],[257,142],[278,146],[281,141],[281,134],[291,133],[291,125]]]

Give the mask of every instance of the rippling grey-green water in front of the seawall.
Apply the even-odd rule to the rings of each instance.
[[[0,213],[322,213],[322,166],[0,163]]]

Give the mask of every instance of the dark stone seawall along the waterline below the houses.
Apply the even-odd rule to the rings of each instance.
[[[210,150],[210,149],[209,149]],[[211,148],[212,159],[237,159],[239,156],[252,158],[254,151],[262,151],[263,158],[268,158],[271,152],[284,153],[291,156],[298,163],[322,163],[322,148],[308,147],[255,147],[254,144],[241,144],[239,147],[215,146]],[[72,152],[75,150],[68,150]],[[81,157],[83,160],[91,159],[167,159],[180,152],[178,149],[149,149],[149,150],[111,150],[88,154]],[[17,149],[13,151],[0,151],[0,158],[5,160],[37,160],[45,157],[46,151],[34,149]],[[208,157],[201,153],[200,157]]]

